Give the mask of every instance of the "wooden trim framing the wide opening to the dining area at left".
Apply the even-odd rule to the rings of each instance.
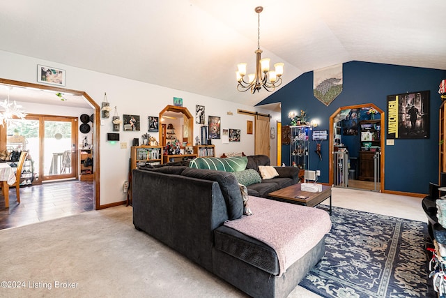
[[[0,78],[0,84],[9,85],[12,87],[22,87],[28,89],[36,89],[37,91],[53,91],[60,92],[62,94],[73,94],[76,96],[82,96],[84,100],[94,109],[94,119],[100,119],[100,107],[93,98],[91,98],[84,91],[77,91],[72,89],[52,87],[43,84],[33,84],[29,82],[20,82],[15,80],[6,80]],[[93,127],[93,208],[101,209],[100,206],[100,125],[95,125]],[[6,148],[6,127],[0,126],[0,148]]]

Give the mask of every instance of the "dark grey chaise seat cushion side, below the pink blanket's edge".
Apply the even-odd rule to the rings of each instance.
[[[279,274],[277,253],[262,241],[246,236],[236,230],[221,227],[214,230],[215,248],[262,269],[269,274]]]

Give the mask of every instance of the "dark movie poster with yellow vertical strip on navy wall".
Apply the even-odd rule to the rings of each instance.
[[[429,139],[430,92],[387,96],[387,139]]]

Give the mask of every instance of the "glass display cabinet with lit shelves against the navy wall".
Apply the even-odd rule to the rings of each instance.
[[[311,126],[290,126],[290,154],[291,165],[300,170],[308,170],[309,167],[309,135]]]

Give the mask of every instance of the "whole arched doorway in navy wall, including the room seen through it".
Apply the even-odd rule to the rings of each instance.
[[[339,107],[330,117],[330,185],[384,190],[385,113],[374,104]]]

